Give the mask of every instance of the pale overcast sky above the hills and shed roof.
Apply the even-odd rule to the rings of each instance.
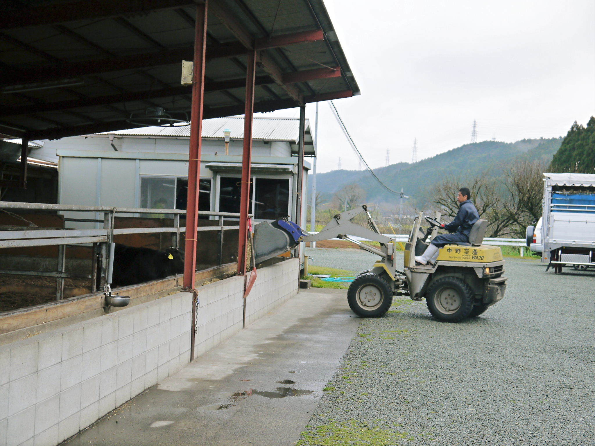
[[[513,142],[595,114],[593,0],[324,2],[362,92],[334,103],[372,167],[411,162],[414,138],[418,160],[468,143],[474,119]],[[318,171],[357,169],[324,102],[319,125]]]

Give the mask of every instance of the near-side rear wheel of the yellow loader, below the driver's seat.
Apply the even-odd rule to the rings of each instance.
[[[430,284],[425,300],[434,318],[445,322],[468,318],[475,303],[471,287],[463,279],[448,276]]]

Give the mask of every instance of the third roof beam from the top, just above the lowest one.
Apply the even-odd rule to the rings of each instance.
[[[329,77],[339,77],[341,71],[339,68],[316,68],[314,70],[296,71],[295,73],[285,73],[281,75],[284,84],[302,82],[306,80],[325,79]],[[269,76],[258,76],[255,78],[255,85],[264,86],[274,83]],[[206,81],[205,93],[234,88],[244,87],[245,78],[231,79],[225,81]],[[0,116],[15,116],[27,114],[32,111],[36,113],[55,112],[89,106],[108,105],[121,102],[144,101],[155,98],[167,98],[170,96],[189,95],[192,87],[167,87],[159,90],[146,90],[141,92],[118,93],[115,95],[98,96],[95,98],[79,98],[71,100],[62,100],[60,102],[36,103],[35,105],[5,106],[0,108]]]

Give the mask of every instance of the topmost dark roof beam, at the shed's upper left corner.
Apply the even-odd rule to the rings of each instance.
[[[193,0],[79,0],[11,11],[0,16],[0,29],[49,26],[74,20],[118,17],[136,12],[168,10],[195,5]]]

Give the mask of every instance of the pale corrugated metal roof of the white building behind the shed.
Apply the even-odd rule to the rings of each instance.
[[[244,118],[213,118],[202,122],[203,138],[224,137],[224,131],[230,130],[234,139],[244,137]],[[306,120],[306,130],[309,133],[309,121]],[[190,137],[190,125],[185,127],[141,127],[129,130],[110,131],[98,134],[119,134],[129,136],[177,136]],[[252,139],[268,141],[290,141],[297,143],[299,135],[298,118],[254,118]]]

